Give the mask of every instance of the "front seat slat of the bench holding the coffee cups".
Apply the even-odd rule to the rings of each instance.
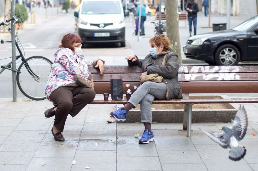
[[[152,104],[220,104],[220,103],[257,103],[257,98],[243,99],[173,99],[173,100],[154,100]],[[127,104],[126,100],[93,100],[90,104]]]

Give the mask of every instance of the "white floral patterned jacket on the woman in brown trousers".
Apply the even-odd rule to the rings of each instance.
[[[84,55],[77,56],[69,48],[59,48],[55,52],[55,60],[52,64],[50,74],[47,78],[45,95],[50,101],[50,94],[58,87],[75,83],[74,75],[88,78],[91,73],[88,66],[93,66],[96,61],[89,62]],[[96,64],[94,65],[96,66]]]

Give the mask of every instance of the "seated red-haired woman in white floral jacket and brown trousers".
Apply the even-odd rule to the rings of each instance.
[[[55,116],[51,131],[56,141],[65,141],[61,132],[68,114],[74,117],[95,98],[94,83],[88,66],[99,68],[101,74],[104,70],[103,60],[89,62],[81,55],[82,44],[78,34],[65,34],[61,43],[55,53],[45,92],[47,99],[54,104],[53,108],[45,111],[45,116]],[[87,78],[93,88],[80,87],[75,81],[75,75]]]

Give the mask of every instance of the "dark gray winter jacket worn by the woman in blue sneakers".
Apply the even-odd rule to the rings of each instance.
[[[147,66],[155,64],[154,66],[147,67],[147,74],[158,74],[164,77],[163,82],[167,86],[167,100],[182,99],[182,90],[178,82],[178,56],[174,52],[168,52],[165,66],[162,65],[164,56],[158,55],[157,57],[152,57],[152,55],[148,54],[144,59],[138,59],[137,57],[137,60],[134,62],[128,60],[128,66],[139,66],[142,68],[142,73],[144,73]]]

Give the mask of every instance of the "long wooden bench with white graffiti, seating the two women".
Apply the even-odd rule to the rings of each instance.
[[[137,86],[139,86],[140,67],[106,66],[103,75],[100,75],[99,70],[93,67],[89,67],[89,71],[93,74],[95,92],[97,94],[110,93],[111,72],[113,72],[113,79],[119,79],[120,72],[122,73],[124,93],[126,93],[128,88],[133,93]],[[258,66],[181,66],[178,76],[185,98],[154,100],[153,104],[185,104],[183,130],[187,130],[187,137],[191,136],[193,104],[258,103],[257,98],[188,99],[190,93],[258,93]],[[91,102],[91,104],[126,103],[126,100],[94,100]]]

